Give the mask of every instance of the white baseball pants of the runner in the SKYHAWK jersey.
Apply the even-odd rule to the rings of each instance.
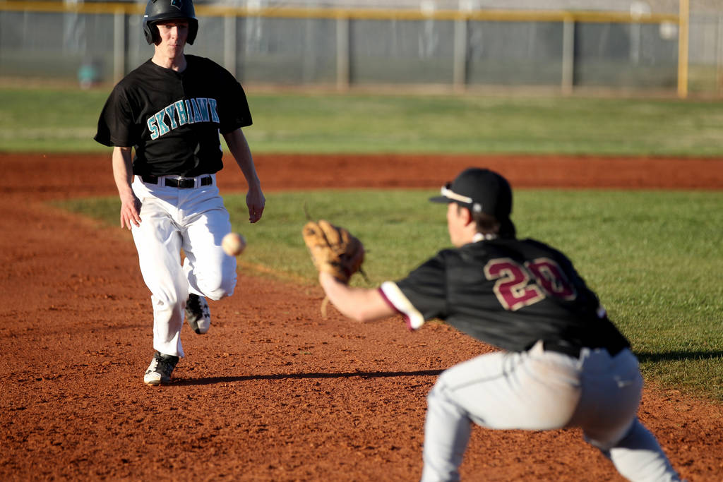
[[[199,176],[205,177],[205,176]],[[153,304],[153,348],[184,356],[181,328],[189,293],[219,300],[236,286],[236,258],[221,249],[231,231],[228,211],[213,183],[189,189],[145,184],[136,176],[140,226],[132,233]],[[181,262],[181,249],[185,259]]]

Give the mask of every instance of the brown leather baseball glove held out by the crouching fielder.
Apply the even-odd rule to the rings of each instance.
[[[346,229],[318,220],[304,225],[301,234],[317,270],[328,272],[345,284],[361,270],[364,246]]]

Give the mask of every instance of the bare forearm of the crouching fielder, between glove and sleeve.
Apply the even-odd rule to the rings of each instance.
[[[345,317],[358,322],[371,322],[390,317],[395,313],[375,289],[351,288],[326,272],[319,273],[319,283],[324,288],[329,301]]]

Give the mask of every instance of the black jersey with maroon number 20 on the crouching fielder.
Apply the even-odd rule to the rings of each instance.
[[[615,351],[629,345],[570,259],[532,239],[442,250],[395,285],[424,320],[443,319],[505,350],[537,340]],[[384,285],[382,293],[390,298]],[[390,299],[398,309],[406,301]]]

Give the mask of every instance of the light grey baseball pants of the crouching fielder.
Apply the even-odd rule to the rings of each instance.
[[[655,437],[638,421],[643,379],[623,350],[583,349],[478,356],[445,370],[427,397],[422,482],[458,481],[471,423],[489,429],[581,427],[585,439],[630,481],[679,481]],[[582,470],[582,469],[581,469]]]

